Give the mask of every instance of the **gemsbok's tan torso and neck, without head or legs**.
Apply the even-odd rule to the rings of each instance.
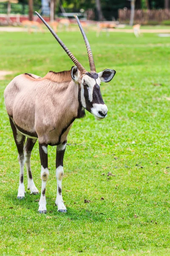
[[[23,74],[8,84],[4,93],[7,113],[26,134],[38,137],[39,143],[62,143],[77,117],[78,85],[71,80],[70,71],[63,78],[51,72],[44,78],[32,76]]]

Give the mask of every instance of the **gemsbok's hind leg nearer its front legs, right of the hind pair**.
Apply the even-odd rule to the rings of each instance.
[[[28,177],[27,189],[30,189],[30,194],[34,194],[34,195],[39,194],[39,191],[34,184],[32,172],[31,172],[31,151],[36,141],[37,139],[27,138],[26,144],[24,145],[24,156],[26,161],[26,169],[27,169],[27,177]]]

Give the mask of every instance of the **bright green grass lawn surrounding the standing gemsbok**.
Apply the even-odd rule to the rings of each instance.
[[[89,70],[80,33],[59,36]],[[108,117],[97,122],[86,113],[68,135],[67,214],[54,206],[56,148],[49,147],[48,213],[40,215],[39,195],[16,198],[19,164],[3,91],[20,73],[44,76],[73,63],[49,33],[0,33],[0,70],[14,71],[0,81],[0,255],[170,255],[170,39],[104,32],[88,38],[97,72],[117,72],[101,86]],[[38,143],[31,165],[40,190]]]

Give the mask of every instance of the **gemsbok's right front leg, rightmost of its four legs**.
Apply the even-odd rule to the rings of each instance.
[[[67,212],[67,209],[62,200],[62,177],[64,175],[63,158],[64,158],[65,147],[66,147],[66,141],[57,146],[57,154],[56,154],[56,178],[57,178],[56,206],[58,206],[58,212]]]

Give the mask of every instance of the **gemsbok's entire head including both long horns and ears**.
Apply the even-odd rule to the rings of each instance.
[[[50,30],[51,34],[56,38],[61,47],[65,50],[71,60],[76,66],[71,68],[71,78],[75,84],[79,85],[80,90],[80,99],[79,102],[83,108],[85,108],[90,113],[94,114],[97,120],[101,120],[107,116],[108,108],[105,105],[102,94],[100,92],[100,82],[109,82],[113,79],[116,71],[111,69],[105,69],[102,72],[96,73],[96,67],[94,64],[93,54],[91,52],[91,47],[88,42],[88,38],[85,35],[84,30],[82,29],[81,23],[77,16],[74,16],[77,20],[79,28],[82,32],[82,36],[85,41],[85,45],[88,52],[88,60],[90,64],[90,72],[87,72],[85,68],[80,64],[77,58],[69,51],[61,39],[56,35],[56,33],[51,29],[51,27],[46,23],[46,21],[35,12],[42,22]]]

